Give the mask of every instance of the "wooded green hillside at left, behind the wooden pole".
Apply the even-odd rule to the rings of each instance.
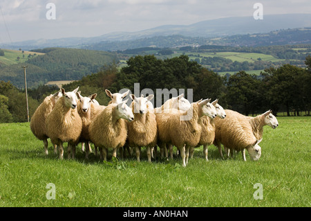
[[[23,69],[27,64],[28,87],[44,85],[50,80],[79,80],[96,73],[106,64],[118,62],[113,53],[73,48],[44,48],[32,53],[45,53],[24,63],[6,65],[0,68],[0,80],[10,80],[19,88],[24,87]]]

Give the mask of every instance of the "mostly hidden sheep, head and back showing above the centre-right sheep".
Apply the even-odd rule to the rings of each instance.
[[[164,102],[164,104],[161,107],[156,107],[155,113],[176,113],[176,110],[180,111],[180,112],[185,112],[186,110],[188,110],[191,107],[191,104],[189,102],[189,100],[187,100],[186,98],[184,98],[184,94],[180,94],[177,97],[171,98],[167,101]],[[164,157],[164,153],[165,156],[168,157],[168,152],[167,152],[167,144],[166,143],[160,143],[159,145],[160,148],[160,154],[161,157]],[[157,146],[155,146],[155,155],[157,154]],[[170,152],[170,156],[171,159],[173,159],[173,146],[169,145],[169,152]]]

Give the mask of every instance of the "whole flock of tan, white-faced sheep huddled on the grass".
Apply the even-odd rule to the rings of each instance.
[[[187,166],[189,156],[193,157],[194,148],[204,146],[205,159],[208,160],[207,148],[213,144],[218,147],[223,158],[221,145],[226,154],[241,151],[245,161],[245,149],[249,157],[258,160],[263,139],[263,126],[278,127],[276,117],[267,111],[256,117],[244,116],[238,112],[224,110],[218,100],[198,100],[189,103],[181,94],[167,100],[161,107],[154,108],[150,100],[153,95],[136,97],[131,94],[129,100],[123,100],[124,94],[106,89],[111,98],[108,106],[100,105],[95,100],[97,94],[84,97],[79,87],[66,92],[61,88],[56,94],[47,96],[39,105],[30,121],[30,129],[37,139],[44,142],[45,154],[48,154],[48,138],[54,145],[54,152],[59,152],[59,159],[64,157],[63,143],[68,142],[68,158],[75,158],[75,148],[82,143],[86,159],[91,150],[91,143],[100,152],[100,159],[106,161],[109,149],[113,157],[117,150],[129,154],[135,150],[140,161],[142,147],[147,148],[148,161],[155,157],[160,148],[160,155],[173,158],[173,145],[176,146],[182,166]],[[154,156],[153,156],[154,154]]]

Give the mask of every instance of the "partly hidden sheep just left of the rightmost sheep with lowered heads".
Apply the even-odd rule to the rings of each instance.
[[[216,109],[217,116],[220,119],[225,118],[227,115],[225,113],[225,110],[223,107],[221,107],[218,104],[218,99],[214,100],[212,103]],[[205,159],[208,161],[208,146],[213,144],[214,139],[215,139],[215,123],[214,123],[214,118],[209,118],[207,116],[202,116],[200,118],[200,125],[202,126],[202,132],[200,136],[200,142],[196,146],[196,148],[200,147],[203,145],[203,153],[205,155]],[[191,148],[190,150],[190,156],[191,158],[194,157],[194,148]]]

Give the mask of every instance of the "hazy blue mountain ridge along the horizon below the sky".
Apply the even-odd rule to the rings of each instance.
[[[158,36],[182,35],[185,37],[206,38],[228,37],[254,33],[269,33],[272,30],[311,27],[311,14],[264,15],[262,20],[254,17],[227,17],[200,21],[191,25],[166,25],[135,32],[117,32],[97,37],[68,37],[62,39],[37,39],[25,42],[0,45],[0,48],[31,50],[46,47],[95,48],[96,44],[121,44]]]

